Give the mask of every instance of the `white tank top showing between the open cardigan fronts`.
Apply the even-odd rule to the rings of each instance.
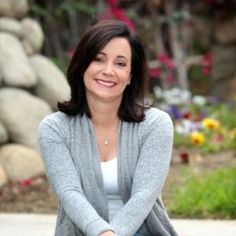
[[[101,162],[101,170],[104,189],[107,194],[109,218],[111,220],[123,206],[118,188],[117,158],[113,158],[110,161]]]

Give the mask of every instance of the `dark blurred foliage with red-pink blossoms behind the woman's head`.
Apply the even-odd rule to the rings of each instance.
[[[234,0],[29,0],[45,32],[43,52],[66,71],[87,26],[119,19],[141,36],[151,89],[179,86],[227,99],[235,90]],[[228,50],[226,50],[228,49]],[[224,53],[222,53],[224,51]]]

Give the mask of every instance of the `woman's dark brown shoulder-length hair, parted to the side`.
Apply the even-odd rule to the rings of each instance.
[[[125,88],[118,116],[128,122],[140,122],[145,117],[145,95],[148,88],[147,61],[138,36],[120,21],[104,20],[89,27],[83,34],[67,71],[71,89],[69,101],[59,102],[58,109],[68,115],[91,117],[83,74],[95,56],[113,38],[127,39],[131,47],[131,83]]]

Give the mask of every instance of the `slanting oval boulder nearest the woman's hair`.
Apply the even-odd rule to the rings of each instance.
[[[56,110],[57,102],[67,100],[70,96],[65,75],[44,56],[34,55],[30,58],[30,63],[38,77],[35,94],[45,99]]]

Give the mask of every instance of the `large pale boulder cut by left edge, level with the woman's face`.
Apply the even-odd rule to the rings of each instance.
[[[30,68],[21,42],[8,33],[0,33],[0,71],[8,86],[32,87],[36,76]]]

